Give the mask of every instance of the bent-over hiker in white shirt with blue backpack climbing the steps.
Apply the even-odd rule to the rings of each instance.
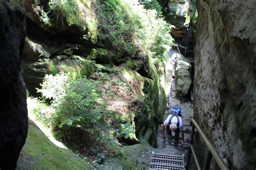
[[[161,137],[164,138],[164,130],[166,126],[166,134],[172,135],[172,132],[175,132],[175,138],[178,139],[179,133],[181,134],[181,144],[184,144],[184,132],[181,116],[183,111],[179,105],[172,107],[171,114],[164,121],[164,124],[160,125],[162,128]]]

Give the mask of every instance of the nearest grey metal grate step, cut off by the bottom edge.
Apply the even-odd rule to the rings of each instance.
[[[168,155],[154,153],[152,155],[150,170],[153,169],[185,169],[184,157],[181,155]]]

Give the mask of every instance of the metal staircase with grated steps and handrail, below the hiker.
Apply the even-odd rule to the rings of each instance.
[[[200,137],[203,139],[204,143],[206,144],[208,148],[208,153],[206,156],[206,160],[204,163],[203,169],[209,169],[212,157],[214,158],[215,162],[218,164],[220,169],[228,169],[226,164],[223,162],[223,160],[220,158],[220,155],[214,148],[214,146],[211,144],[210,140],[206,137],[203,130],[201,130],[200,126],[197,124],[196,120],[193,118],[191,119],[192,122],[192,131],[191,131],[191,140],[190,140],[190,146],[186,158],[186,165],[184,163],[184,154],[183,155],[173,155],[173,154],[162,154],[162,153],[154,153],[152,152],[152,160],[150,164],[150,170],[153,169],[189,169],[190,168],[190,157],[191,154],[193,154],[194,158],[194,164],[196,164],[197,169],[201,169],[199,161],[197,159],[196,153],[194,152],[193,147],[193,137],[195,133],[195,129],[197,129],[197,132],[200,134]],[[165,135],[164,142],[162,148],[177,148],[179,147],[179,139],[174,139],[170,135]],[[181,146],[182,147],[182,146]],[[194,168],[193,168],[194,169]]]

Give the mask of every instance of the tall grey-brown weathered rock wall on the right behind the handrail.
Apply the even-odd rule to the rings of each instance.
[[[255,169],[256,1],[197,7],[195,118],[230,169]],[[198,145],[201,165],[204,150]]]

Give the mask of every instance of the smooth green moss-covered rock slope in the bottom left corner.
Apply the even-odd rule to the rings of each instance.
[[[53,144],[30,122],[28,137],[18,160],[19,169],[92,169],[69,149]]]

